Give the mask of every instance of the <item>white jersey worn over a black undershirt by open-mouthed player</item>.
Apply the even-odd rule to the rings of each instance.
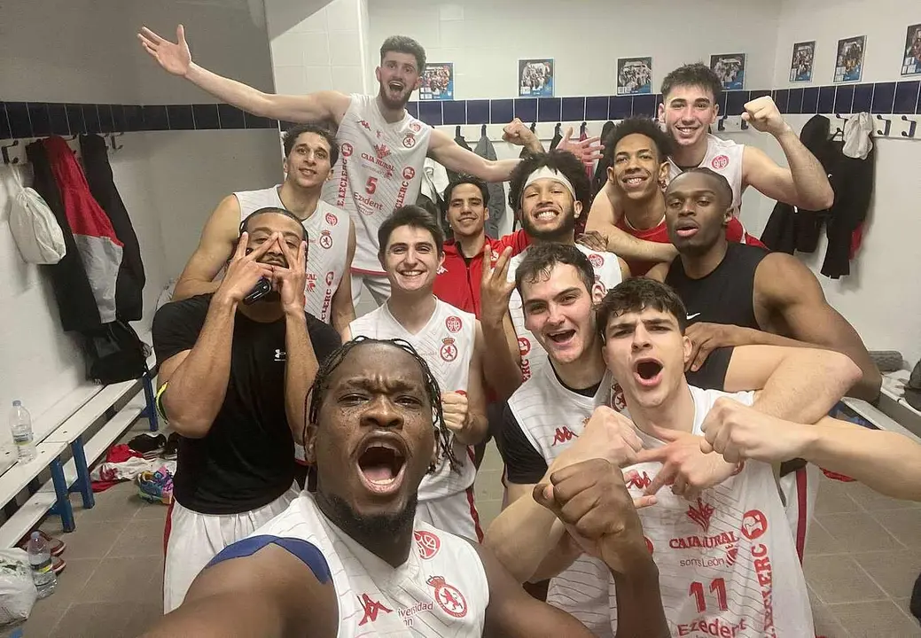
[[[509,398],[508,408],[549,466],[582,435],[595,408],[610,405],[612,385],[607,372],[595,396],[586,397],[565,388],[553,365],[544,365]],[[572,615],[595,636],[610,637],[610,580],[607,565],[583,554],[551,579],[547,602]]]

